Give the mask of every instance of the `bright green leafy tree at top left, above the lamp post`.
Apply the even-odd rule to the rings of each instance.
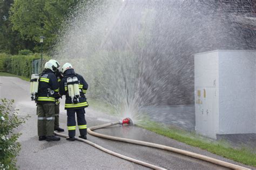
[[[65,17],[78,1],[16,0],[10,9],[12,29],[21,33],[23,39],[37,44],[40,36],[46,37],[44,49],[50,50]]]

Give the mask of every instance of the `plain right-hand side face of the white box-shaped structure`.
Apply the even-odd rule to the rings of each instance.
[[[219,134],[256,133],[256,51],[219,51]]]

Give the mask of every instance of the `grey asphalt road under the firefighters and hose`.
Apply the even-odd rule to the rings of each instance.
[[[29,82],[16,77],[0,77],[0,83],[2,83],[0,85],[0,98],[15,99],[15,108],[19,109],[19,115],[21,117],[28,114],[31,116],[18,129],[19,132],[22,132],[22,136],[19,138],[22,150],[17,158],[19,169],[148,169],[144,166],[113,157],[80,141],[67,141],[64,138],[61,138],[60,141],[53,142],[38,141],[36,105],[30,100]],[[66,113],[63,103],[64,100],[61,101],[60,106],[60,127],[65,129],[64,133],[66,134]],[[92,110],[90,107],[86,108],[85,117],[88,127],[117,120],[110,115]],[[96,132],[185,149],[186,151],[241,165],[137,126],[117,125],[96,130]],[[95,144],[111,151],[167,169],[224,169],[217,165],[188,158],[183,155],[161,151],[160,149],[101,139],[91,135],[87,135],[87,138],[87,140],[95,142]]]

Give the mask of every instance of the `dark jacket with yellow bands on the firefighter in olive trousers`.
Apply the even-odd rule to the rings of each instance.
[[[40,75],[36,103],[55,103],[59,98],[59,84],[55,73],[45,69]]]

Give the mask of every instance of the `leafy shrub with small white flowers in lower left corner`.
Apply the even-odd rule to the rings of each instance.
[[[25,118],[19,118],[17,110],[12,108],[14,100],[1,99],[0,104],[0,169],[16,169],[16,156],[21,150],[17,139],[21,133],[15,129],[25,123]]]

